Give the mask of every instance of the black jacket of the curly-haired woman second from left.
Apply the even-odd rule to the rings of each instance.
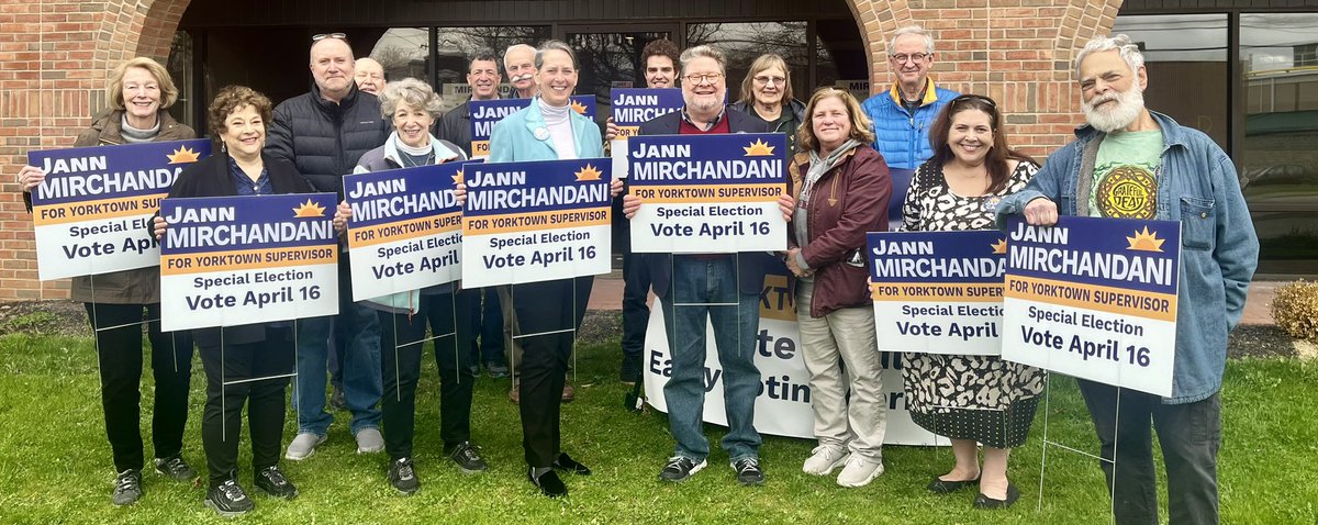
[[[269,153],[261,154],[261,162],[265,164],[266,173],[270,177],[270,189],[275,194],[316,191],[298,173],[293,162]],[[237,189],[233,186],[233,174],[229,171],[229,156],[223,152],[216,152],[185,168],[183,173],[179,173],[178,181],[174,182],[174,187],[169,191],[170,198],[232,195],[237,195]],[[223,328],[223,339],[220,335],[221,328],[195,328],[192,330],[192,338],[196,339],[198,346],[203,347],[217,347],[221,340],[225,344],[246,344],[265,340],[265,328],[266,323],[229,326]]]

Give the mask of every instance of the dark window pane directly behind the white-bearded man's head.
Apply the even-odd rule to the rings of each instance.
[[[1145,104],[1207,133],[1227,150],[1227,16],[1119,16],[1124,33],[1144,50],[1149,86]]]

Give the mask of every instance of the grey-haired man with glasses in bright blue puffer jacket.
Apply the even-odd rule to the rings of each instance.
[[[861,107],[874,121],[874,149],[888,168],[913,170],[933,156],[929,125],[958,92],[933,84],[933,34],[919,25],[899,28],[888,44],[898,80]]]

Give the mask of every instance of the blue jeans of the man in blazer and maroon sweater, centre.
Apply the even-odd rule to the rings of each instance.
[[[672,356],[672,376],[663,393],[668,426],[677,439],[676,455],[700,462],[709,456],[709,441],[701,430],[705,406],[705,318],[714,328],[718,365],[724,384],[728,434],[722,448],[731,462],[759,456],[755,431],[755,397],[760,377],[755,368],[755,334],[759,330],[759,294],[743,294],[737,286],[735,256],[701,260],[673,256],[672,284],[660,305]],[[710,303],[726,306],[709,306]]]

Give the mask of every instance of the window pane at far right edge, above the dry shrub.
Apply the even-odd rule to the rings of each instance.
[[[1240,185],[1259,232],[1259,272],[1318,262],[1318,13],[1242,13],[1246,129]]]

